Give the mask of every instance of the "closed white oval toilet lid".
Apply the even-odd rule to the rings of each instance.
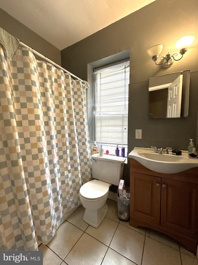
[[[82,185],[80,194],[86,199],[99,199],[109,192],[109,184],[100,180],[91,180]]]

